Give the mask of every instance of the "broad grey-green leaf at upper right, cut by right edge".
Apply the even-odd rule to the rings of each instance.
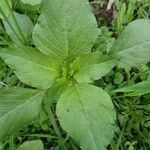
[[[150,20],[130,23],[111,48],[119,66],[139,66],[150,61]]]

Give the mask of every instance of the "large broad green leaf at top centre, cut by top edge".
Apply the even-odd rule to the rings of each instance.
[[[43,0],[33,40],[44,54],[74,59],[91,51],[97,35],[97,22],[87,0]]]

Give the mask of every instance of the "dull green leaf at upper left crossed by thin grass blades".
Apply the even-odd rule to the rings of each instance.
[[[30,18],[26,15],[21,15],[19,13],[14,12],[14,16],[18,22],[18,25],[21,29],[21,32],[23,34],[23,36],[25,37],[26,41],[29,41],[29,37],[31,36],[31,33],[33,31],[33,23],[30,20]],[[14,31],[12,30],[12,28],[10,27],[10,25],[8,24],[8,22],[6,20],[3,21],[6,32],[8,33],[8,35],[10,36],[10,38],[15,42],[15,43],[19,43],[21,44],[21,40],[22,39],[22,34],[20,33],[20,31],[18,30],[16,23],[14,21],[14,19],[12,18],[12,16],[8,17],[8,21],[11,24],[12,28],[14,29]],[[18,36],[17,36],[17,35]],[[19,37],[19,38],[18,38]]]

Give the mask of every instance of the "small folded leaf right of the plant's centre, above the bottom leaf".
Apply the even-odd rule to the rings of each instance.
[[[74,78],[79,83],[92,83],[105,76],[115,66],[115,61],[99,52],[78,57],[73,62]]]

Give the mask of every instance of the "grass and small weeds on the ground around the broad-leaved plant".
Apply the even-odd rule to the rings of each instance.
[[[92,10],[100,27],[98,37],[93,49],[108,53],[115,38],[131,21],[138,18],[150,18],[149,0],[115,0],[113,3],[107,0],[90,0]],[[36,22],[40,13],[40,7],[23,4],[20,0],[13,0],[13,9],[16,12],[28,15]],[[4,47],[10,39],[2,28],[0,22],[0,47]],[[95,85],[107,90],[113,99],[117,110],[117,125],[115,137],[108,149],[111,150],[148,150],[150,149],[150,94],[122,94],[113,90],[124,86],[130,86],[142,81],[150,81],[150,64],[140,68],[114,68],[106,77],[95,82]],[[0,87],[4,86],[25,87],[13,71],[0,60]],[[136,90],[136,89],[135,89]],[[55,115],[53,116],[55,118]],[[41,112],[41,118],[25,127],[18,133],[17,138],[10,137],[5,144],[0,144],[0,149],[7,146],[20,145],[26,140],[41,138],[45,149],[60,149],[62,143],[67,150],[79,149],[76,143],[70,139],[60,128],[63,135],[59,143],[57,135],[50,123],[48,114]]]

